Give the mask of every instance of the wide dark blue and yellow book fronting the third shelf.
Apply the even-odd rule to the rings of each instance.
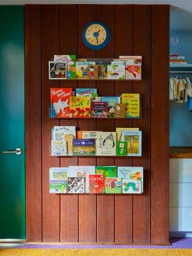
[[[95,155],[95,139],[73,139],[73,155]]]

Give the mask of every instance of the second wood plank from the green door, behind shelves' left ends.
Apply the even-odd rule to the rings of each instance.
[[[59,119],[49,118],[49,88],[59,87],[59,81],[48,79],[48,61],[59,52],[59,5],[42,5],[42,192],[43,242],[60,242],[60,195],[49,194],[49,168],[59,167],[60,160],[49,156],[51,129]]]

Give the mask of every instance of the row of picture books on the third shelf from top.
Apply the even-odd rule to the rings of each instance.
[[[54,126],[52,156],[141,156],[142,131],[116,128],[116,132],[77,131],[75,126]]]

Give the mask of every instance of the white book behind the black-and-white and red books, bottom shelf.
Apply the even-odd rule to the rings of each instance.
[[[86,193],[89,193],[90,174],[95,174],[95,166],[69,166],[69,176],[85,178]]]

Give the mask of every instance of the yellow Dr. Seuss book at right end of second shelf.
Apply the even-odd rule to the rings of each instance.
[[[127,118],[140,118],[140,94],[122,93],[122,103],[126,104]]]

